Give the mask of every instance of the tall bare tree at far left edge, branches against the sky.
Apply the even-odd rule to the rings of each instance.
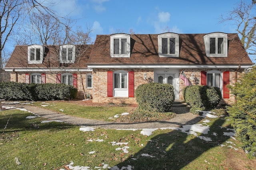
[[[33,13],[48,15],[60,21],[61,17],[50,9],[53,5],[55,4],[49,1],[0,0],[0,81],[2,81],[2,51],[14,29],[22,26]]]

